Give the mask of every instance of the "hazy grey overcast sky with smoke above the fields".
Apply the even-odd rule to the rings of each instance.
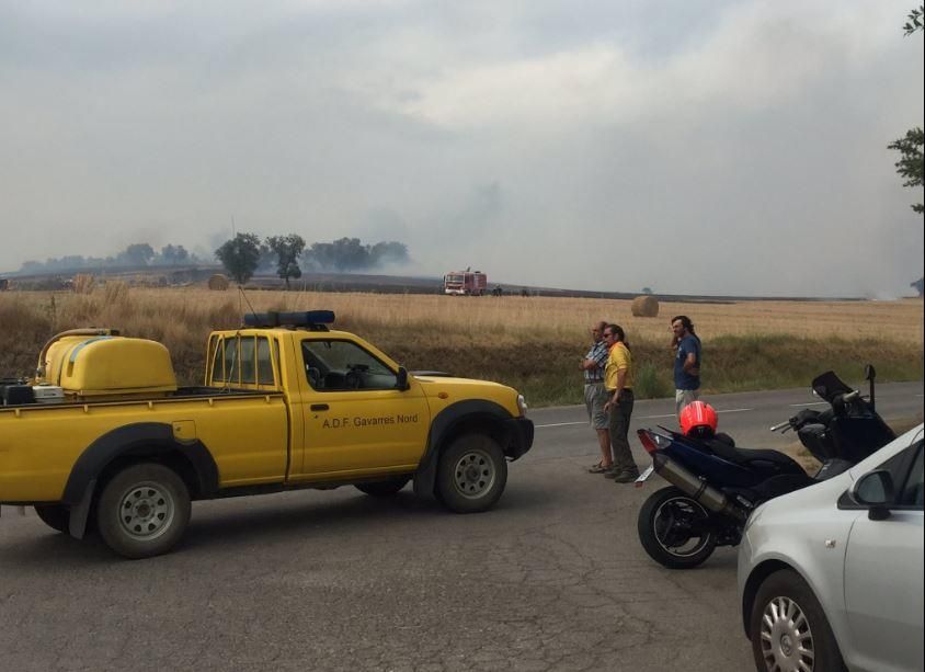
[[[233,218],[513,285],[909,294],[916,4],[0,0],[0,270]]]

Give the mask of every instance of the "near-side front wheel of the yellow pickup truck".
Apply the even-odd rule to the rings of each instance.
[[[437,499],[456,513],[494,506],[507,483],[507,460],[501,446],[484,434],[462,434],[441,454]]]

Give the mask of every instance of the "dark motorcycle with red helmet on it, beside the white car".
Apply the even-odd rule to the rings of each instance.
[[[739,448],[724,434],[695,438],[663,426],[639,430],[652,466],[636,486],[642,487],[653,472],[672,483],[653,492],[639,511],[637,528],[646,553],[670,569],[697,567],[717,547],[736,546],[745,521],[762,502],[832,478],[895,438],[875,408],[872,366],[865,367],[865,377],[867,398],[825,372],[813,379],[812,389],[829,408],[802,410],[770,428],[796,431],[822,465],[812,476],[784,453]]]

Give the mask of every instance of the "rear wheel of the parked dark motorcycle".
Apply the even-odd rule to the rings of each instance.
[[[639,540],[650,558],[669,569],[697,567],[717,545],[715,532],[696,529],[706,525],[711,515],[677,488],[662,488],[639,510]]]

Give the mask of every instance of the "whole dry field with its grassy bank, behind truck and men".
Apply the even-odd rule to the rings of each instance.
[[[861,379],[864,364],[881,380],[922,375],[922,301],[662,303],[658,318],[638,318],[630,303],[550,297],[315,292],[142,289],[110,283],[91,294],[0,295],[0,372],[27,375],[50,335],[78,327],[114,327],[163,342],[184,384],[202,378],[213,329],[233,328],[251,307],[332,309],[336,327],[376,343],[410,369],[483,377],[523,390],[534,405],[578,403],[578,360],[596,320],[619,323],[637,365],[637,396],[673,394],[669,320],[692,318],[704,342],[705,391],[808,385],[833,368]]]

